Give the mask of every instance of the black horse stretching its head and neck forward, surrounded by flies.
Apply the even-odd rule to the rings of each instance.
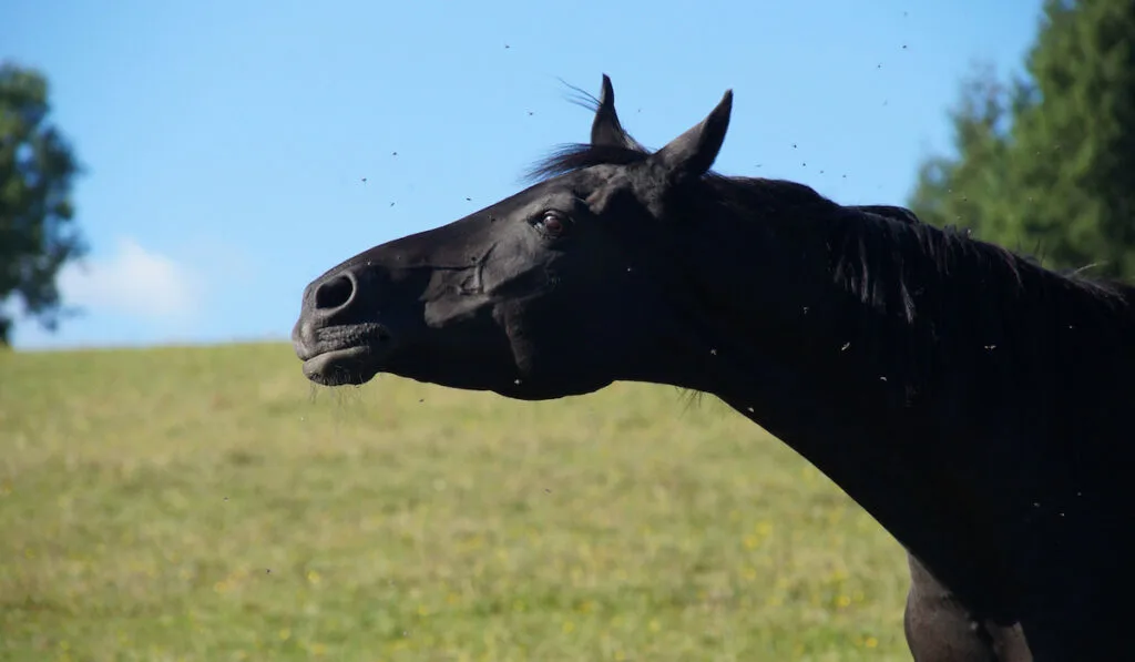
[[[905,209],[715,174],[731,91],[657,151],[623,129],[606,76],[591,102],[590,143],[535,185],[312,282],[304,375],[714,394],[908,550],[916,660],[1130,654],[1135,288]]]

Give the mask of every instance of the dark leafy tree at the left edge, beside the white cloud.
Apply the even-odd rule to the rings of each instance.
[[[74,226],[67,141],[48,123],[48,82],[34,69],[0,64],[0,303],[54,330],[62,315],[56,276],[86,245]],[[0,309],[0,346],[9,343],[11,307]]]

